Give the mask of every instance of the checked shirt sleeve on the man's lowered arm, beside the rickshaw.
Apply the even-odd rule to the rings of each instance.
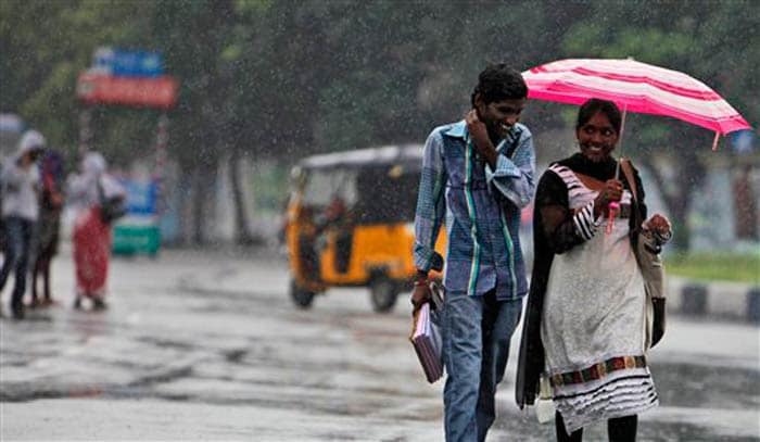
[[[443,136],[433,131],[425,143],[422,173],[415,212],[415,266],[430,270],[435,240],[446,212],[444,198],[447,175],[443,163]]]

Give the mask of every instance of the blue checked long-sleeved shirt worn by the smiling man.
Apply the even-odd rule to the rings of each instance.
[[[435,128],[425,146],[415,216],[415,265],[429,270],[441,225],[448,244],[443,285],[448,291],[498,300],[528,292],[518,229],[535,190],[530,130],[516,124],[496,147],[496,169],[477,155],[461,121]]]

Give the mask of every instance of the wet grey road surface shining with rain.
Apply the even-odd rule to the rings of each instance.
[[[65,254],[54,271],[59,306],[0,321],[3,441],[443,439],[405,300],[377,315],[365,291],[334,290],[300,311],[273,252],[167,252],[116,260],[99,314],[71,310]],[[514,404],[514,359],[490,440],[553,440]],[[639,440],[760,440],[757,327],[672,317],[650,359],[661,406]]]

